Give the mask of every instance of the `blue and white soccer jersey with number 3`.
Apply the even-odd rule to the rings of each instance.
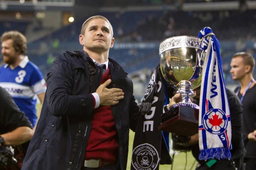
[[[46,91],[46,82],[38,67],[27,56],[14,69],[5,64],[0,67],[0,86],[11,94],[34,127],[37,121],[37,94]]]

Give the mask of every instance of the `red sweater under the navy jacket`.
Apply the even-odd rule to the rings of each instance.
[[[109,68],[102,75],[100,84],[110,79]],[[92,129],[85,152],[85,160],[101,159],[115,162],[118,151],[117,132],[111,106],[94,109]]]

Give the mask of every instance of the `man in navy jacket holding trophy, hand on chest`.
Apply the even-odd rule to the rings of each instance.
[[[93,16],[84,22],[79,41],[83,51],[66,51],[47,74],[23,170],[126,170],[129,128],[135,130],[139,107],[132,81],[108,58],[112,26]]]

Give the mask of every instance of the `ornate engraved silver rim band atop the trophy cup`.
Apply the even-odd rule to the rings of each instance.
[[[162,54],[164,51],[173,48],[191,47],[201,49],[200,41],[200,38],[194,36],[175,36],[167,38],[160,43],[159,55]]]

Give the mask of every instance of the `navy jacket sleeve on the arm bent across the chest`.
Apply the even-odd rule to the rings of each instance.
[[[66,56],[60,55],[55,59],[47,74],[47,105],[55,116],[91,115],[93,96],[89,93],[72,95],[76,77],[75,69],[71,65],[72,61],[68,57],[66,54]]]

